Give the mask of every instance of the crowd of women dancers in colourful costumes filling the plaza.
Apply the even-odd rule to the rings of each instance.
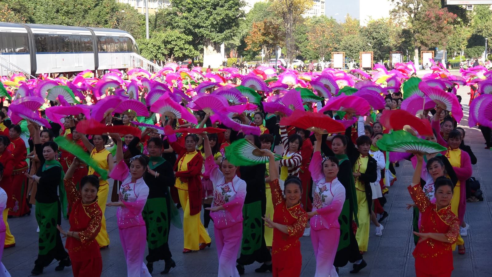
[[[333,76],[330,70],[336,71],[329,69],[323,74]],[[408,78],[402,77],[401,82]],[[126,100],[145,103],[151,92],[142,75],[136,74],[137,79],[140,86],[134,95],[129,81],[126,83]],[[357,81],[368,82],[366,79],[369,77],[359,75]],[[323,133],[293,126],[296,124],[284,126],[285,112],[265,108],[271,97],[286,91],[302,96],[295,89],[306,82],[282,84],[270,94],[256,90],[260,101],[254,108],[235,113],[231,117],[234,124],[226,124],[227,120],[217,118],[217,111],[197,104],[204,95],[242,84],[239,76],[223,81],[229,85],[213,83],[203,94],[198,92],[203,87],[192,82],[190,74],[180,80],[181,84],[170,83],[170,93],[159,100],[173,102],[169,95],[182,93],[176,104],[181,103],[189,114],[181,117],[153,112],[149,103],[146,116],[139,116],[137,108],[121,111],[104,106],[120,96],[96,96],[88,88],[79,90],[84,98],[74,96],[84,103],[75,107],[84,108],[84,112],[62,114],[59,122],[48,116],[48,111],[70,106],[64,105],[66,99],[59,95],[56,100],[40,103],[46,109],[41,114],[46,113],[51,120],[49,125],[29,116],[10,118],[15,114],[8,112],[9,107],[22,105],[32,96],[17,95],[13,102],[3,101],[0,241],[4,245],[0,249],[15,246],[7,218],[29,215],[34,207],[39,250],[31,273],[42,274],[56,259],[56,271],[71,266],[76,277],[100,276],[101,251],[110,245],[105,210],[117,207],[129,277],[150,276],[154,262],[159,260],[165,261],[161,274],[176,267],[168,245],[171,225],[183,229],[183,253],[204,250],[214,241],[219,277],[242,275],[245,266],[254,263],[259,263],[256,272],[300,276],[302,236],[311,238],[316,277],[338,276],[339,268],[348,263],[352,263],[350,273],[358,273],[367,266],[363,255],[372,236],[371,222],[375,225],[373,235],[384,235],[382,223],[389,216],[383,208],[385,195],[396,180],[394,167],[406,159],[415,169],[413,179],[408,180],[414,203],[408,208],[414,211],[417,276],[451,276],[452,251],[458,248],[459,254],[465,253],[461,237],[469,228],[464,211],[470,194],[465,184],[472,176],[471,165],[476,163],[471,148],[464,145],[465,132],[457,127],[455,114],[433,105],[417,115],[433,127],[433,135],[419,136],[410,130],[415,136],[441,144],[445,151],[406,153],[390,162],[390,152],[380,150],[377,141],[392,132],[383,119],[387,110],[398,110],[405,102],[400,88],[393,93],[385,90],[379,95],[384,107],[364,114],[357,113],[355,107],[343,112],[323,108],[333,103],[332,99],[303,102],[308,112],[318,111],[345,123],[344,131]],[[390,88],[389,82],[376,85]],[[189,105],[193,102],[195,106]],[[97,114],[103,116],[97,118]],[[189,117],[191,114],[196,120]],[[106,129],[97,129],[97,124]],[[251,128],[253,131],[248,131]],[[264,162],[253,163],[245,156],[246,165],[237,166],[231,160],[232,148],[243,140],[256,148],[253,152]],[[67,143],[83,153],[67,147]],[[110,178],[114,180],[111,193]],[[68,218],[69,227],[62,226],[62,216]],[[64,246],[62,237],[66,237]],[[0,272],[8,274],[1,266]]]

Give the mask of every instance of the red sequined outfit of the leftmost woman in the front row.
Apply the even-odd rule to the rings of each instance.
[[[67,237],[65,248],[72,261],[74,277],[101,276],[102,259],[99,243],[95,237],[101,230],[102,212],[97,205],[97,197],[91,204],[82,204],[80,192],[73,179],[64,180],[68,202],[72,206],[70,232],[78,232],[80,240]]]

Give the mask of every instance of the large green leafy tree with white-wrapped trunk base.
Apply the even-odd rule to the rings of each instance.
[[[218,67],[224,58],[220,44],[237,33],[244,5],[243,0],[171,0],[156,14],[156,29],[170,27],[193,37],[195,49],[203,47],[204,66]]]

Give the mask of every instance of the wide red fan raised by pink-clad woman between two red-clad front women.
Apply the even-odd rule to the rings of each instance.
[[[342,133],[346,129],[343,124],[322,113],[295,110],[289,117],[290,120],[286,119],[288,118],[282,118],[280,125],[302,128],[317,134]]]

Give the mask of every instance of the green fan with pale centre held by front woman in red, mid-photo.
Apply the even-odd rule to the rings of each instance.
[[[263,156],[261,150],[246,138],[241,138],[231,145],[225,147],[225,157],[229,163],[239,166],[254,166],[268,163],[269,157]],[[275,155],[275,160],[281,160],[282,157]]]

